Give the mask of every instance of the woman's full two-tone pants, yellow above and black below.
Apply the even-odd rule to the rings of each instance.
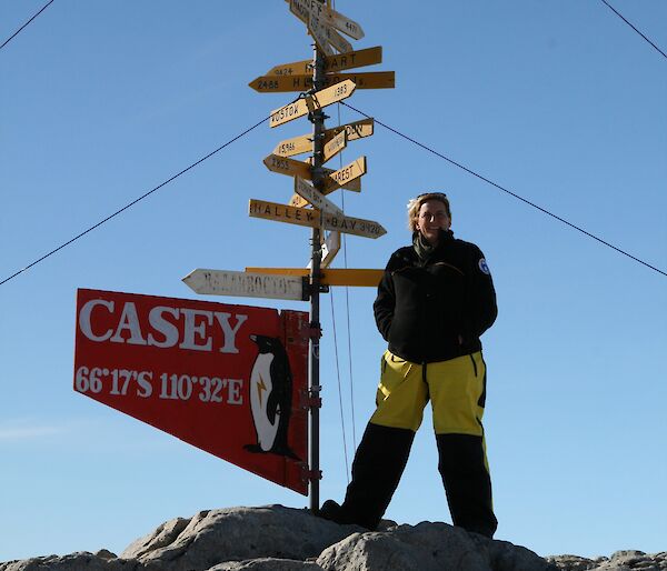
[[[451,520],[468,531],[494,535],[498,520],[481,425],[486,401],[481,352],[426,364],[385,352],[377,409],[355,454],[352,480],[336,521],[377,528],[406,467],[429,400],[438,471]]]

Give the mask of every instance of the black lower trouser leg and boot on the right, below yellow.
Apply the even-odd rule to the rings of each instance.
[[[492,538],[498,528],[491,503],[491,479],[481,437],[436,434],[451,520],[468,531]]]

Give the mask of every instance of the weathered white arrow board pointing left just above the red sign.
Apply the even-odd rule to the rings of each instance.
[[[197,269],[182,280],[196,293],[242,298],[308,299],[303,281],[289,276],[265,276],[227,270]]]

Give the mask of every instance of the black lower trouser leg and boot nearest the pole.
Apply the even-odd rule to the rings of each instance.
[[[415,432],[368,423],[352,462],[352,481],[342,505],[325,502],[321,515],[375,530],[406,468]]]

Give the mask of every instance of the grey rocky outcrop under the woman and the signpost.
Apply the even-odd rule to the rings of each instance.
[[[605,567],[606,565],[606,567]],[[654,567],[650,567],[654,565]],[[661,565],[661,567],[660,567]],[[0,563],[0,571],[663,571],[665,553],[623,551],[610,559],[560,555],[545,560],[526,548],[489,540],[446,523],[381,531],[268,505],[203,511],[170,520],[119,557],[102,550]]]

